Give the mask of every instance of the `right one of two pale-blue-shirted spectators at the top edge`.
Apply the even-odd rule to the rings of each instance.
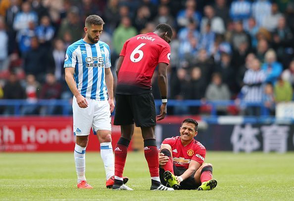
[[[269,0],[256,0],[252,3],[252,16],[258,26],[262,26],[263,19],[271,14],[271,10],[272,4]]]

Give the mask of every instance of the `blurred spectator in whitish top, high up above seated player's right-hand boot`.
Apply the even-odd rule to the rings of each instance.
[[[215,16],[214,9],[211,5],[206,5],[204,7],[205,16],[201,20],[200,32],[205,33],[207,24],[210,24],[210,29],[216,34],[224,34],[225,24],[222,18]]]

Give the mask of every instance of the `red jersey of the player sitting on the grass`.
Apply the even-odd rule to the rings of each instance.
[[[177,167],[188,169],[191,160],[195,160],[201,165],[204,162],[206,149],[195,139],[187,146],[184,146],[181,136],[176,136],[164,139],[162,144],[169,144],[172,147],[173,160]]]

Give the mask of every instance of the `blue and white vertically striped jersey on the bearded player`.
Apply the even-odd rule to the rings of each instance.
[[[64,67],[74,67],[74,78],[85,98],[107,100],[105,68],[111,67],[109,46],[98,41],[88,44],[83,39],[71,44],[66,51]]]

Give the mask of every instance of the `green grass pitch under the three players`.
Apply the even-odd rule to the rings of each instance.
[[[207,152],[217,187],[212,191],[150,191],[143,152],[128,153],[124,175],[132,192],[105,187],[98,152],[86,154],[86,177],[94,189],[79,190],[72,152],[0,152],[0,200],[116,200],[116,201],[294,201],[294,152]]]

